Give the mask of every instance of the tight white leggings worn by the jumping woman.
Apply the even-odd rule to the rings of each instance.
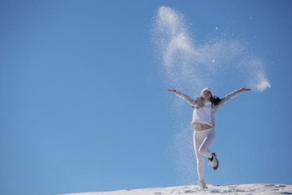
[[[207,129],[204,131],[194,130],[194,148],[196,152],[199,180],[205,179],[204,156],[211,158],[212,153],[208,150],[215,140],[215,130]]]

